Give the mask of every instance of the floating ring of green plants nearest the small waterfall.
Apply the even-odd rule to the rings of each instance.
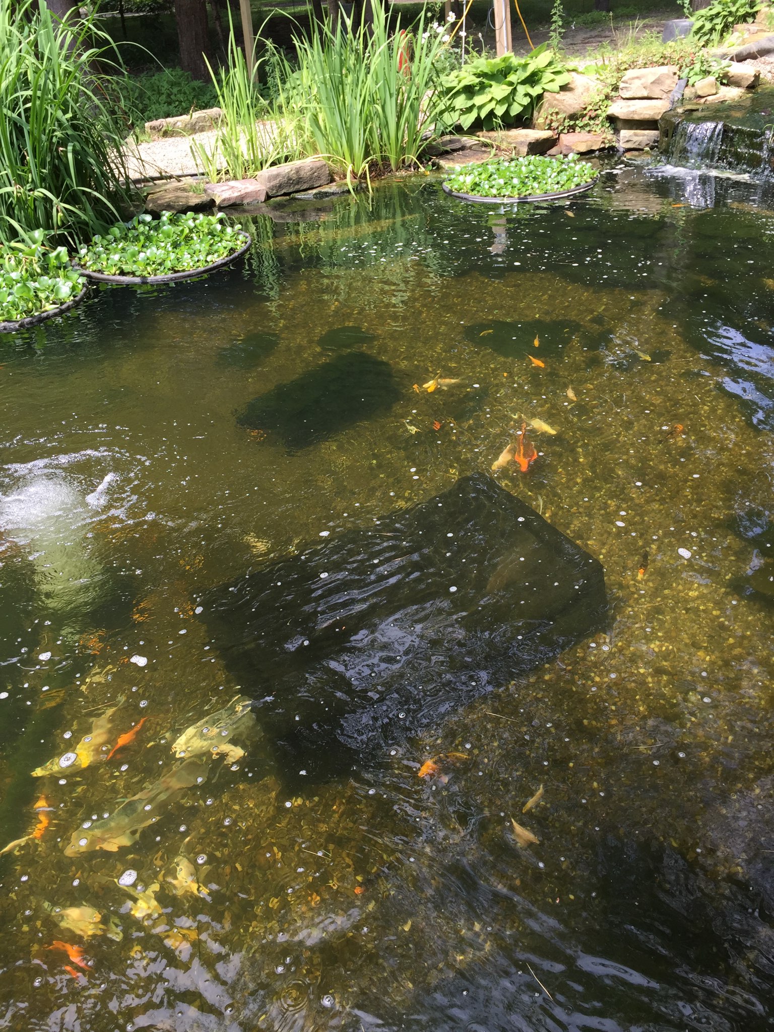
[[[496,159],[471,167],[465,165],[446,181],[456,193],[476,197],[535,197],[584,186],[596,176],[585,161],[527,156],[513,161]]]

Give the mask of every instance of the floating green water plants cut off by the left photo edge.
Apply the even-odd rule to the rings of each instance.
[[[0,322],[17,322],[66,304],[85,280],[70,267],[65,248],[46,248],[36,230],[29,244],[9,244],[0,251]]]

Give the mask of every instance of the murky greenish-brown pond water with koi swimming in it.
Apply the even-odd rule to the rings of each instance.
[[[0,1028],[771,1027],[774,202],[688,174],[288,204],[241,268],[3,338]],[[475,690],[389,538],[467,477],[606,584],[559,654],[477,638]],[[372,553],[444,705],[299,745],[365,632],[309,673],[293,600],[319,630],[304,571]]]

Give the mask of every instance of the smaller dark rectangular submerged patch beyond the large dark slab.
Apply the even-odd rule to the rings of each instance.
[[[389,362],[353,351],[253,398],[236,421],[297,451],[387,412],[399,397]]]

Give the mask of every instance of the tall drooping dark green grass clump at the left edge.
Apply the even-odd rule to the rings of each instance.
[[[42,229],[74,245],[128,199],[125,126],[97,71],[112,44],[75,13],[0,0],[1,243]]]

